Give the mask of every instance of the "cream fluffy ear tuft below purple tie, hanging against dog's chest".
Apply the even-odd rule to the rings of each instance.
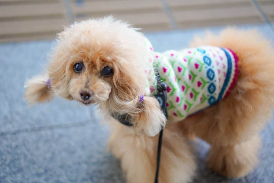
[[[143,109],[136,118],[137,127],[148,136],[155,136],[165,127],[166,117],[155,97],[145,96],[142,105]]]

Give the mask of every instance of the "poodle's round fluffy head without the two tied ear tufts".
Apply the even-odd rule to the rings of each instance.
[[[134,101],[147,81],[142,34],[110,18],[75,23],[58,35],[48,75],[56,95],[85,105]]]

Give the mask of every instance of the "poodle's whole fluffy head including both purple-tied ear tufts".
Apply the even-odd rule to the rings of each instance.
[[[58,34],[47,72],[25,83],[26,101],[33,105],[57,95],[85,105],[96,103],[107,115],[131,115],[138,133],[156,135],[166,118],[150,96],[149,77],[155,77],[145,71],[152,70],[152,52],[137,30],[112,17],[65,28]]]

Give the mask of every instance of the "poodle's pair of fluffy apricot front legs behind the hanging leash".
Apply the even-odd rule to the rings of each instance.
[[[159,136],[134,134],[133,127],[118,126],[116,124],[111,130],[109,148],[121,159],[127,182],[153,182]],[[189,182],[196,169],[192,148],[178,129],[178,124],[168,124],[164,129],[159,168],[161,183]]]

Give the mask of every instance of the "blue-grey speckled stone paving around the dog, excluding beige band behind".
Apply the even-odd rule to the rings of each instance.
[[[258,28],[274,42],[266,24]],[[222,28],[209,28],[219,32]],[[205,29],[147,33],[156,51],[186,47]],[[119,161],[105,151],[108,128],[99,125],[94,108],[56,98],[27,108],[24,82],[42,72],[52,41],[0,44],[0,183],[16,182],[125,182]],[[227,180],[205,168],[208,145],[198,141],[198,175],[202,183],[274,182],[274,120],[262,132],[261,162],[238,180]]]

